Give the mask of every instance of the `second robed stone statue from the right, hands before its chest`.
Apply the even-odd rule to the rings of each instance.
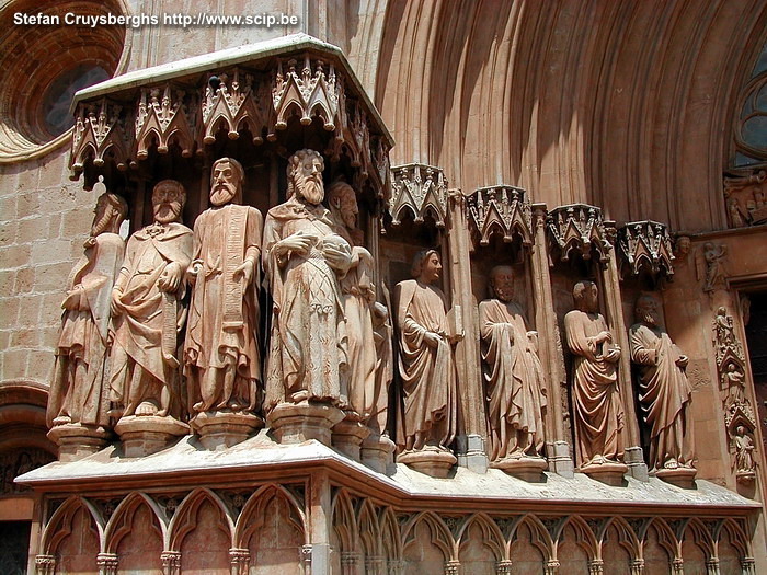
[[[620,347],[598,313],[593,281],[573,288],[575,310],[564,317],[568,347],[573,354],[572,400],[581,469],[622,457],[623,404],[618,391]]]

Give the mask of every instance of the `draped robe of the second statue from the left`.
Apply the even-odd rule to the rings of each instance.
[[[183,273],[191,261],[192,230],[181,223],[151,225],[128,239],[115,283],[124,309],[113,318],[113,402],[133,405],[135,410],[142,401],[158,402],[162,387],[169,387],[172,412],[180,416],[176,335],[186,319],[180,300],[185,294]],[[160,277],[171,264],[182,273],[176,292],[159,287]],[[133,386],[137,378],[141,378],[141,384]]]

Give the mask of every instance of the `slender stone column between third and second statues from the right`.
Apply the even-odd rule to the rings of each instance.
[[[546,241],[546,204],[533,205],[533,228],[535,242],[533,244],[533,295],[536,308],[536,329],[540,361],[546,369],[549,382],[549,426],[547,428],[547,449],[549,470],[563,478],[573,476],[573,459],[570,455],[570,442],[564,436],[564,415],[562,413],[562,388],[566,386],[568,376],[564,371],[562,340],[557,324],[557,313],[553,308],[551,276],[549,274],[549,254]]]

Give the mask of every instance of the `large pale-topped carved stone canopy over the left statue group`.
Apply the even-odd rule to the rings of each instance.
[[[133,71],[79,91],[72,112],[73,180],[108,161],[137,169],[151,150],[202,157],[220,135],[279,146],[297,118],[329,134],[333,161],[346,154],[379,197],[390,194],[389,131],[341,49],[306,34]]]

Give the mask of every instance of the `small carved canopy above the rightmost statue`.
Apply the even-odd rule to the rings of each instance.
[[[642,269],[653,277],[674,274],[674,244],[665,223],[643,220],[626,223],[618,230],[622,268],[632,275]]]

